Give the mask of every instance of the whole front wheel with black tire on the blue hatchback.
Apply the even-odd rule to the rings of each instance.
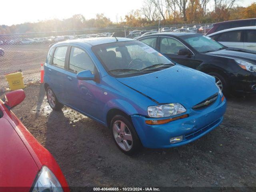
[[[112,118],[110,127],[116,146],[125,154],[134,154],[138,152],[142,144],[136,133],[132,122],[122,115],[116,115]]]

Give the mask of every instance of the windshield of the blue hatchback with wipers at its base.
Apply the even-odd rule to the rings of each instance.
[[[92,47],[112,76],[134,76],[155,72],[174,64],[152,47],[140,41],[124,41]]]

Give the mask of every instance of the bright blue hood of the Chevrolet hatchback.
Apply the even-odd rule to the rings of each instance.
[[[117,80],[159,104],[178,102],[187,109],[218,92],[213,77],[179,64],[158,72]]]

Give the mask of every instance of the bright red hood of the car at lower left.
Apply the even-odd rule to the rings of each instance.
[[[39,169],[10,122],[0,118],[0,187],[28,187]]]

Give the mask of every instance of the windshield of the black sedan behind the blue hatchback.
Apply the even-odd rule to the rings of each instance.
[[[190,46],[200,53],[207,53],[225,49],[226,47],[207,36],[194,36],[184,39]]]

